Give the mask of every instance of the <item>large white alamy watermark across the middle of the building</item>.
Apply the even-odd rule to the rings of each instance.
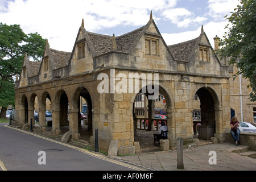
[[[159,74],[154,73],[118,73],[110,69],[110,78],[106,73],[100,73],[97,80],[102,80],[97,86],[98,93],[148,93],[148,100],[155,100],[159,94]],[[154,85],[153,85],[154,80]],[[117,82],[117,84],[115,84]],[[141,85],[141,87],[140,87]]]

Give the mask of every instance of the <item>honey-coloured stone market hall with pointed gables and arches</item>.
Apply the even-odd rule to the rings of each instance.
[[[193,142],[192,101],[196,94],[200,98],[201,125],[213,126],[214,137],[224,142],[230,122],[229,72],[225,60],[214,53],[220,39],[214,41],[212,48],[202,26],[197,38],[168,46],[152,12],[145,26],[120,36],[88,32],[82,20],[72,52],[57,51],[47,43],[42,61],[30,61],[25,56],[15,86],[16,126],[23,127],[30,118],[35,124],[37,97],[39,129],[45,131],[48,127],[49,100],[51,134],[60,135],[61,126],[67,126],[70,137],[79,140],[85,132],[81,130],[82,97],[87,104],[88,131],[92,131],[90,142],[94,143],[98,129],[100,150],[108,151],[110,142],[117,141],[118,154],[134,154],[135,129],[142,125],[134,117],[135,98],[146,90],[143,93],[148,99],[152,96],[150,90],[158,88],[166,102],[170,150],[175,149],[179,137],[186,143]],[[147,76],[146,84],[143,76]],[[109,82],[109,86],[103,82]],[[130,85],[139,91],[128,92]],[[99,88],[106,92],[99,92]],[[154,129],[155,101],[147,102],[147,130]]]

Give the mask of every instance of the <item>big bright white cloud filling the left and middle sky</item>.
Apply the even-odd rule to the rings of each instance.
[[[26,34],[39,32],[52,48],[71,51],[82,18],[88,31],[143,26],[149,20],[150,10],[174,7],[176,1],[1,0],[0,19],[6,24],[20,24]]]

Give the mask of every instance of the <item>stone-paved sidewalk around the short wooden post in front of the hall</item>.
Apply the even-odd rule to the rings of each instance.
[[[232,143],[217,143],[185,148],[183,150],[184,169],[177,169],[176,151],[151,152],[114,158],[156,171],[256,171],[256,159],[239,154],[246,147],[235,146]],[[216,152],[217,164],[209,164],[209,158],[213,156],[209,155],[210,151]]]

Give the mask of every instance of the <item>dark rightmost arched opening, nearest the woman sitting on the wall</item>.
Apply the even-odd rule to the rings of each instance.
[[[196,92],[196,96],[200,101],[200,116],[193,112],[193,118],[197,117],[197,121],[193,119],[194,138],[209,140],[216,133],[216,115],[218,108],[218,100],[216,93],[211,88],[200,88]],[[199,119],[200,118],[200,119]],[[200,125],[198,125],[200,123]],[[196,128],[195,128],[196,127]],[[195,132],[195,129],[198,133]]]

